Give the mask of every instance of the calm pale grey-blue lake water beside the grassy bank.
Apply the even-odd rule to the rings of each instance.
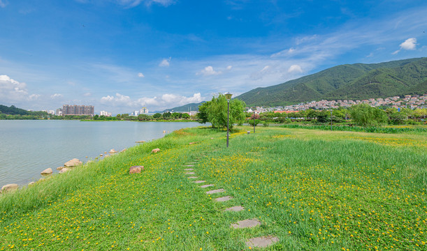
[[[121,151],[138,140],[163,137],[164,130],[194,126],[201,124],[0,120],[0,188],[9,183],[36,181],[44,169],[50,167],[57,172],[57,167],[72,158],[86,162],[110,149]]]

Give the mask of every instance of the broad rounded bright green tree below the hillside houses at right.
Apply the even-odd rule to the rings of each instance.
[[[368,104],[354,105],[350,114],[359,126],[378,126],[388,119],[386,112]]]

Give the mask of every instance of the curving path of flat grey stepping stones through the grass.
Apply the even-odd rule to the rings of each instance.
[[[215,150],[214,152],[216,151],[217,150]],[[199,160],[194,160],[194,161],[199,161]],[[196,164],[196,162],[187,162],[187,165],[184,165],[184,167],[194,167],[194,164]],[[184,169],[184,171],[194,171],[194,168],[186,168]],[[196,172],[186,172],[185,174],[196,174]],[[198,177],[189,176],[187,178],[198,178]],[[191,182],[199,184],[199,183],[205,183],[206,181],[191,181]],[[214,184],[201,185],[200,188],[210,188],[212,186],[214,186]],[[220,188],[220,189],[210,190],[206,192],[206,194],[213,195],[220,192],[226,192],[226,190],[224,190],[223,188]],[[224,201],[229,201],[231,199],[233,199],[233,197],[224,196],[224,197],[216,198],[215,201],[224,202]],[[224,209],[224,211],[229,211],[229,212],[240,212],[243,210],[245,210],[243,206],[231,206],[229,208]],[[240,220],[236,222],[236,224],[231,224],[231,227],[233,229],[244,229],[244,228],[250,228],[250,227],[257,227],[257,226],[260,226],[261,224],[262,224],[261,221],[254,218],[254,219]],[[249,248],[266,248],[270,245],[277,243],[277,241],[279,241],[279,239],[275,236],[259,236],[259,237],[250,238],[249,240],[247,240],[246,246]]]

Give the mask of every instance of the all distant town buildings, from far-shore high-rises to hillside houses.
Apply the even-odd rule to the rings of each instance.
[[[406,95],[404,97],[393,96],[389,98],[370,98],[367,100],[320,100],[311,102],[301,102],[298,105],[287,105],[277,107],[254,107],[254,112],[260,114],[263,112],[298,112],[306,109],[338,109],[340,107],[351,107],[352,105],[368,104],[372,107],[393,107],[396,109],[408,108],[408,109],[425,109],[427,108],[427,94],[422,96],[419,95]],[[247,107],[249,109],[249,107]],[[173,109],[171,109],[173,112]],[[42,110],[48,114],[57,116],[66,115],[87,115],[94,116],[93,105],[63,105],[62,108],[54,110]],[[194,116],[197,111],[189,112],[178,112],[181,114],[189,114]],[[149,114],[146,107],[142,107],[139,110],[135,110],[129,113],[129,116],[138,116],[139,114]],[[101,111],[99,116],[113,116],[111,112]]]

